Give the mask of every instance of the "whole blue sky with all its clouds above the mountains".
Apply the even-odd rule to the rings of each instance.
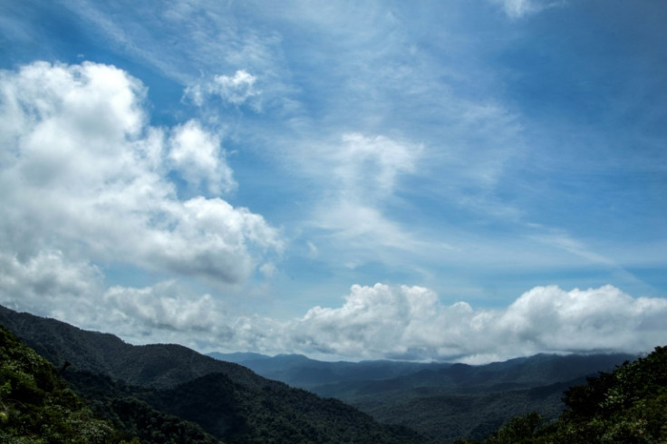
[[[5,0],[0,304],[200,352],[667,344],[667,4]]]

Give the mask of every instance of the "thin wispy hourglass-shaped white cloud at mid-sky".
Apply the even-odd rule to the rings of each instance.
[[[380,208],[401,175],[415,171],[421,149],[382,135],[347,133],[339,143],[304,152],[304,168],[326,184],[309,224],[357,247],[411,248],[410,234]]]

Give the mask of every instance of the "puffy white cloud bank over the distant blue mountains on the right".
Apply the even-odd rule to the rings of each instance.
[[[339,308],[290,323],[300,352],[349,357],[489,362],[537,352],[639,352],[667,343],[667,300],[611,285],[536,287],[505,309],[441,304],[418,286],[353,285]]]

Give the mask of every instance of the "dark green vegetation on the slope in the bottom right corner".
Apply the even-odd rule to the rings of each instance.
[[[667,347],[565,391],[563,414],[514,418],[486,444],[667,443]],[[476,441],[461,441],[476,442]]]

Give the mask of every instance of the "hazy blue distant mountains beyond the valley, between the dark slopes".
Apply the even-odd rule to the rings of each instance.
[[[410,427],[443,443],[483,439],[505,421],[529,411],[556,418],[565,408],[561,399],[568,387],[635,357],[538,354],[467,365],[233,356],[263,376],[339,399],[376,420]]]

